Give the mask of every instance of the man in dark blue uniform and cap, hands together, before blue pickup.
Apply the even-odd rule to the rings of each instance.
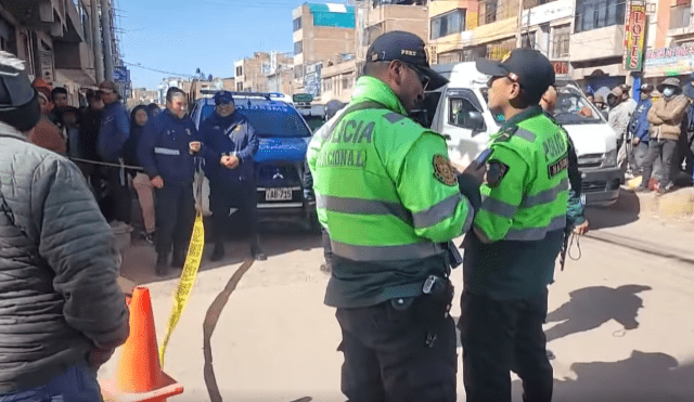
[[[231,207],[247,217],[250,226],[250,254],[256,260],[266,260],[260,250],[258,234],[258,197],[255,180],[255,160],[258,137],[250,121],[236,111],[231,92],[215,94],[215,113],[200,126],[205,145],[213,159],[205,165],[209,179],[209,209],[213,212],[215,250],[213,261],[224,257],[223,228]],[[219,159],[221,156],[222,159]],[[218,164],[217,160],[221,163]]]

